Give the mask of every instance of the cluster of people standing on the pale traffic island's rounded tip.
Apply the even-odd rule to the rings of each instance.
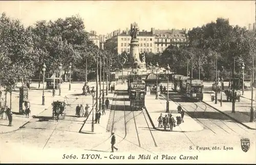
[[[184,123],[184,114],[185,111],[182,109],[182,107],[179,105],[177,107],[178,114],[176,115],[176,120],[174,119],[174,116],[172,113],[163,114],[161,113],[158,117],[158,127],[164,127],[164,130],[167,128],[170,128],[170,131],[173,131],[173,127],[179,126],[181,123]]]

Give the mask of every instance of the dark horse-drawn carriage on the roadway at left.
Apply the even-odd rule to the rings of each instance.
[[[52,103],[52,118],[59,120],[59,115],[62,117],[62,119],[65,119],[65,109],[66,109],[66,103],[65,101],[53,101]]]

